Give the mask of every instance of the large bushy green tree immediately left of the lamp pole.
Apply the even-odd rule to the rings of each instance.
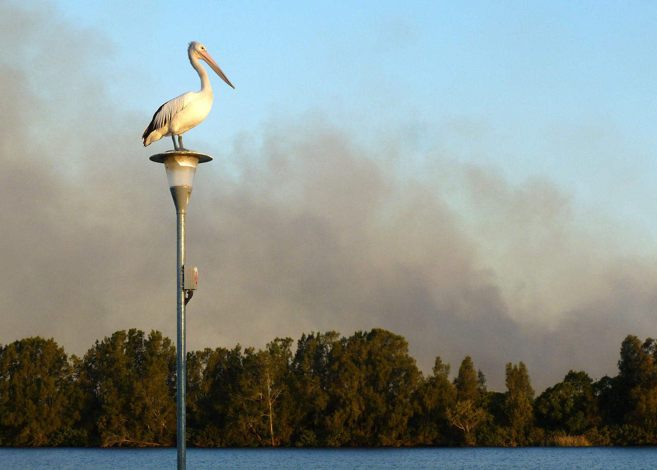
[[[175,348],[159,331],[116,331],[78,365],[84,415],[101,446],[170,445],[175,438]]]

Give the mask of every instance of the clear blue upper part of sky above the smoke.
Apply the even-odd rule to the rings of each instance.
[[[467,123],[497,148],[482,156],[471,141],[447,142],[459,158],[501,167],[513,181],[547,175],[587,202],[654,218],[646,204],[657,173],[650,2],[101,1],[80,9],[58,1],[55,9],[107,39],[112,66],[127,74],[112,92],[137,112],[195,89],[185,46],[197,40],[237,83],[236,91],[215,85],[206,127],[223,139],[319,110],[365,142],[382,128],[415,128],[422,150]],[[141,83],[131,81],[137,74]]]

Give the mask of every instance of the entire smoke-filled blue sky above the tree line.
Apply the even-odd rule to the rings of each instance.
[[[384,328],[540,392],[657,335],[657,4],[181,5],[0,0],[0,343],[175,338],[172,144],[140,137],[200,88],[190,41],[236,89],[184,139],[188,351]]]

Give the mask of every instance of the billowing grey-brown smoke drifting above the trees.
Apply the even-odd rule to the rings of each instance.
[[[164,147],[141,148],[150,115],[112,95],[131,86],[120,74],[95,72],[112,70],[95,32],[7,3],[0,18],[0,342],[83,354],[126,328],[174,338],[175,213],[147,158]],[[208,144],[188,348],[386,328],[424,372],[469,354],[492,389],[521,360],[539,391],[570,369],[615,374],[623,337],[654,324],[654,259],[555,182],[462,163],[438,138],[450,129],[363,142],[308,112]]]

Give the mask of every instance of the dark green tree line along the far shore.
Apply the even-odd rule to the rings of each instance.
[[[618,375],[570,371],[534,396],[524,363],[488,391],[470,356],[424,376],[390,331],[276,338],[187,354],[189,446],[657,444],[657,341],[628,335]],[[0,445],[175,445],[175,347],[116,331],[79,358],[53,339],[0,346]]]

